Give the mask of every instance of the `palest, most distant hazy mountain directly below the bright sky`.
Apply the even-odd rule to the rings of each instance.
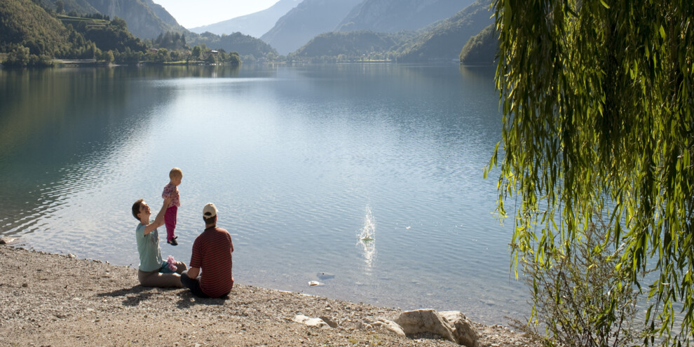
[[[292,8],[297,7],[300,2],[301,0],[280,0],[277,4],[263,11],[251,13],[250,15],[242,15],[215,24],[194,27],[189,30],[198,34],[211,32],[217,35],[242,32],[243,34],[253,37],[260,37],[268,32],[268,30],[272,29],[278,19],[291,11]]]

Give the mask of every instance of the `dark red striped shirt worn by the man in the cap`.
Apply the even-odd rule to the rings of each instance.
[[[233,287],[231,252],[229,232],[217,226],[205,229],[193,243],[191,267],[202,269],[200,290],[209,297],[221,297]]]

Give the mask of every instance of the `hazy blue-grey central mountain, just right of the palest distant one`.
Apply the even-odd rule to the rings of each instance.
[[[277,51],[286,55],[304,46],[318,34],[332,32],[347,13],[362,0],[304,0],[280,18],[261,36]]]

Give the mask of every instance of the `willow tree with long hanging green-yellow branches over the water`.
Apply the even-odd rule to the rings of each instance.
[[[643,288],[646,328],[690,343],[694,1],[493,6],[503,146],[490,168],[501,169],[498,211],[510,206],[515,217],[515,266],[549,268],[547,254],[570,253],[596,215],[607,216],[605,239],[618,240],[616,267],[627,273],[607,285]]]

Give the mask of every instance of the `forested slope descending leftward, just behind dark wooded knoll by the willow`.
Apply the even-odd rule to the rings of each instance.
[[[494,22],[491,0],[477,0],[447,20],[437,22],[397,48],[399,62],[458,60],[470,37]]]

